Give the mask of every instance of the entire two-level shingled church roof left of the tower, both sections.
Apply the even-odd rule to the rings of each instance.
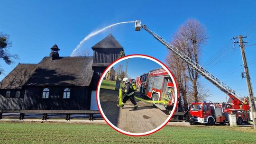
[[[89,86],[93,57],[45,57],[38,64],[18,64],[1,82],[0,89],[22,86]]]

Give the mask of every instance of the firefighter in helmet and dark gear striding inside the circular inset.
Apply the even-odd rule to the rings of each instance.
[[[135,98],[134,98],[134,90],[132,88],[132,85],[130,84],[128,78],[124,78],[123,81],[125,82],[125,88],[122,89],[122,93],[125,93],[126,96],[124,97],[124,99],[122,101],[122,105],[121,106],[118,105],[118,106],[123,108],[126,101],[128,99],[130,99],[132,104],[134,105],[134,108],[132,108],[132,110],[137,110],[138,106],[137,106],[137,103],[136,103]]]

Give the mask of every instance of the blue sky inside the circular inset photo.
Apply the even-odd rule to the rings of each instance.
[[[119,65],[123,65],[123,71],[125,71],[126,61],[127,60],[123,60],[118,64],[114,65],[114,69],[116,69]],[[138,57],[129,58],[127,75],[128,77],[136,80],[136,78],[142,75],[143,73],[147,73],[150,70],[155,70],[158,68],[162,68],[162,66],[160,66],[158,63],[155,63],[154,61],[151,61],[149,59],[138,58]]]

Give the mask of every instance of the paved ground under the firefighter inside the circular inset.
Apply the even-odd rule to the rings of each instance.
[[[124,108],[119,108],[117,106],[118,92],[118,90],[101,89],[101,108],[110,122],[124,131],[131,133],[148,132],[160,126],[169,117],[151,103],[144,101],[136,100],[139,108],[135,111],[130,111],[133,108],[130,100],[127,101]],[[139,95],[140,93],[136,92],[136,96]]]

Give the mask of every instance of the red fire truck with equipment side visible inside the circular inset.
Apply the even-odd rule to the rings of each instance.
[[[152,70],[140,76],[140,92],[153,101],[166,100],[167,106],[174,105],[174,83],[164,68]]]

